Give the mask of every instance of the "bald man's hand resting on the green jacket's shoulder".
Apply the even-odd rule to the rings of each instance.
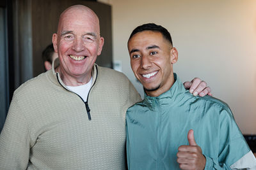
[[[212,96],[211,88],[207,87],[207,83],[205,81],[200,80],[200,78],[194,78],[191,81],[186,81],[183,83],[186,89],[189,89],[189,92],[194,96],[204,97],[205,95]]]

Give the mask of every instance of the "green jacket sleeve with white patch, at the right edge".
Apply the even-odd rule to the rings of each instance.
[[[250,148],[229,108],[221,110],[219,122],[218,160],[205,155],[205,169],[254,169],[256,159],[246,156]]]

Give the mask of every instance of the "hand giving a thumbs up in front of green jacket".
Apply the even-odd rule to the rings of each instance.
[[[177,162],[180,164],[180,169],[204,169],[206,159],[200,146],[196,144],[192,129],[188,132],[188,142],[189,145],[182,145],[178,148]]]

